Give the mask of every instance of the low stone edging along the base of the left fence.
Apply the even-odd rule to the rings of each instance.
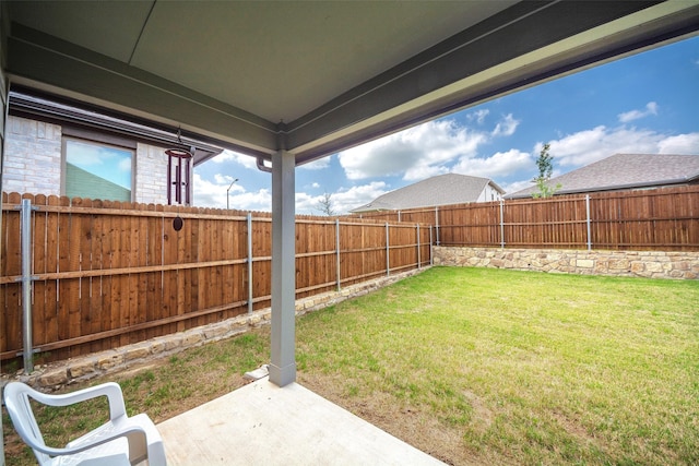
[[[405,277],[416,275],[428,267],[410,271],[370,282],[348,286],[341,291],[324,292],[296,301],[296,315],[303,315],[345,299],[366,295]],[[34,372],[25,374],[23,370],[12,375],[3,374],[0,386],[10,380],[20,380],[43,391],[52,391],[74,382],[94,379],[96,377],[123,371],[142,366],[153,360],[166,358],[187,348],[201,346],[242,334],[250,328],[270,324],[272,310],[270,308],[254,311],[252,314],[238,315],[223,322],[203,325],[186,332],[161,336],[146,342],[123,346],[117,349],[95,353],[66,361],[51,362],[47,366],[36,366]]]

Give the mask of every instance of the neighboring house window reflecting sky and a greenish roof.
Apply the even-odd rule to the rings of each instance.
[[[69,198],[132,201],[134,151],[63,138],[63,193]]]

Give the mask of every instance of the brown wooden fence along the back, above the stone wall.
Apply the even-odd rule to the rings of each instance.
[[[445,205],[363,214],[420,222],[436,244],[611,250],[699,250],[699,186]]]

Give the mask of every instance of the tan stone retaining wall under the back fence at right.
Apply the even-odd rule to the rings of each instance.
[[[583,275],[699,278],[699,252],[435,247],[435,265]]]

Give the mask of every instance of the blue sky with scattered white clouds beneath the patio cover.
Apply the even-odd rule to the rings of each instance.
[[[296,170],[297,214],[336,213],[431,176],[531,186],[542,144],[554,176],[617,153],[699,156],[699,37],[581,71],[333,154]],[[271,211],[271,175],[224,152],[194,170],[194,205]]]

